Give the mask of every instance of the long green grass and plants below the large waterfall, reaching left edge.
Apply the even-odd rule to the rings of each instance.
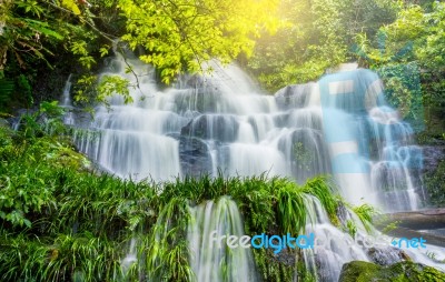
[[[0,128],[0,281],[194,281],[188,207],[224,195],[237,203],[247,234],[300,233],[313,197],[338,224],[342,199],[327,177],[304,185],[266,174],[121,180],[92,170],[66,134],[29,119],[20,132]],[[366,209],[357,213],[368,220]],[[132,240],[137,262],[123,269]],[[293,272],[265,255],[256,254],[260,273]]]

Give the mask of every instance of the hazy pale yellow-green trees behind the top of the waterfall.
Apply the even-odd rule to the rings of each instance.
[[[394,21],[402,1],[280,1],[285,20],[274,36],[264,34],[248,61],[270,91],[319,78],[328,68],[353,58],[355,37],[373,37]]]

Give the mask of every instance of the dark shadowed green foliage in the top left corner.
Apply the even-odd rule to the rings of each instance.
[[[92,18],[86,7],[73,0],[2,1],[0,79],[16,83],[7,108],[30,108],[40,102],[32,87],[42,80],[52,83],[42,74],[55,66],[80,66],[85,71],[93,67],[93,52],[107,44],[102,43],[105,34],[95,27]]]

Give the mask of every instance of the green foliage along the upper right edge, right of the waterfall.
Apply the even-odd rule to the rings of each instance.
[[[427,1],[424,1],[427,2]],[[433,2],[433,1],[431,1]],[[387,95],[415,129],[422,131],[425,118],[427,130],[437,134],[445,95],[443,91],[445,47],[443,19],[445,4],[434,1],[428,6],[405,6],[397,19],[382,27],[375,38],[357,36],[356,52],[362,66],[376,69],[387,87]],[[421,88],[422,87],[422,88]],[[425,108],[425,112],[421,107]],[[437,109],[437,110],[436,110]]]

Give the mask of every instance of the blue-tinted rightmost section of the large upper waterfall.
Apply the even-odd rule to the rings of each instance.
[[[387,105],[377,74],[358,69],[325,75],[318,91],[333,173],[345,198],[384,211],[418,209],[422,150],[409,124]]]

